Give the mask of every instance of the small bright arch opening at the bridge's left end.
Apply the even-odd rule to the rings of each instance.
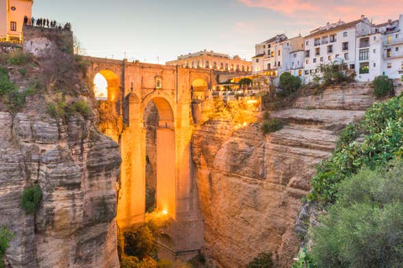
[[[94,94],[97,100],[116,101],[119,96],[119,77],[112,70],[101,70],[94,77]]]

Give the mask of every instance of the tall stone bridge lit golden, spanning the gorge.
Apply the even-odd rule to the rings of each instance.
[[[157,127],[157,211],[168,214],[172,225],[163,239],[175,258],[194,255],[203,244],[203,222],[198,208],[190,151],[192,96],[204,98],[216,83],[210,70],[86,57],[89,79],[107,80],[107,100],[115,103],[127,128],[120,137],[122,166],[117,223],[125,228],[144,221],[146,196],[146,125],[144,110],[153,102]]]

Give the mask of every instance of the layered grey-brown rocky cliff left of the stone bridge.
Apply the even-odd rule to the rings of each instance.
[[[29,60],[18,51],[2,55],[8,58],[0,68],[17,90],[0,96],[0,226],[16,237],[3,262],[12,268],[119,267],[120,152],[96,130],[92,94],[83,74],[72,68],[77,59],[59,53]],[[68,77],[59,77],[58,71]],[[23,107],[10,111],[11,96],[18,96]],[[69,114],[51,116],[52,102],[57,113]],[[88,103],[92,111],[83,116],[73,109],[77,103]],[[28,215],[21,196],[32,185],[40,187],[42,201],[38,212]]]

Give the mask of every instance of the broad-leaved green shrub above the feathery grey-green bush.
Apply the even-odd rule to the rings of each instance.
[[[365,112],[360,124],[348,126],[333,155],[320,163],[311,180],[309,200],[328,203],[337,199],[337,183],[355,174],[361,167],[385,165],[403,152],[403,99],[375,103]],[[365,139],[353,142],[363,129]],[[403,155],[402,155],[403,156]]]

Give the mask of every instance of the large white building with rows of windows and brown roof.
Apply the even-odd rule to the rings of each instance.
[[[361,16],[361,19],[350,23],[327,23],[304,37],[306,82],[320,72],[320,64],[344,62],[350,70],[356,69],[356,25],[359,23],[372,25],[365,16]]]

